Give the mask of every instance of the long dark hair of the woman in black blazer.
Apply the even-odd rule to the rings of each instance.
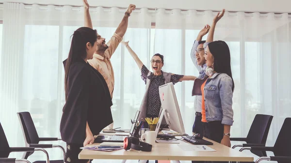
[[[92,46],[97,40],[97,30],[88,27],[81,27],[74,31],[72,35],[71,48],[65,64],[65,100],[67,99],[67,80],[70,66],[78,59],[86,59],[86,44]]]

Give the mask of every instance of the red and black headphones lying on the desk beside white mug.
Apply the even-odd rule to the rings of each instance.
[[[127,136],[123,141],[123,147],[125,150],[129,150],[131,148],[134,150],[150,152],[153,146],[146,142],[139,141],[138,137]]]

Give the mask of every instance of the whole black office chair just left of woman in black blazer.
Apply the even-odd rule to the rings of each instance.
[[[19,121],[21,123],[21,128],[23,135],[25,137],[26,144],[29,147],[35,148],[61,148],[64,154],[64,160],[51,160],[51,163],[64,163],[65,161],[65,148],[60,145],[52,145],[52,144],[38,144],[40,141],[58,141],[56,137],[39,137],[37,131],[35,129],[32,117],[29,112],[19,112],[17,113]],[[23,154],[23,158],[27,159],[28,156],[32,155],[32,152],[25,152]],[[40,163],[40,162],[38,162]]]

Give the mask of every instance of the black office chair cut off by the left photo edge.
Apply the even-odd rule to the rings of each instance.
[[[30,163],[27,160],[21,159],[21,160],[16,160],[16,159],[11,159],[8,158],[9,154],[11,152],[33,152],[33,151],[43,151],[45,152],[46,156],[47,156],[47,163],[49,163],[49,154],[48,152],[43,149],[43,148],[34,148],[34,147],[9,147],[6,135],[4,133],[4,130],[2,128],[2,125],[0,123],[0,163],[12,163],[12,162],[26,162],[26,163]],[[35,162],[34,162],[35,163]]]

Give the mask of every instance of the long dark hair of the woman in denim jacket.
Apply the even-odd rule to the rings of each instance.
[[[224,41],[214,41],[208,44],[210,53],[214,57],[214,71],[217,73],[225,73],[231,77],[232,91],[234,90],[234,82],[230,67],[230,51],[229,47]]]

